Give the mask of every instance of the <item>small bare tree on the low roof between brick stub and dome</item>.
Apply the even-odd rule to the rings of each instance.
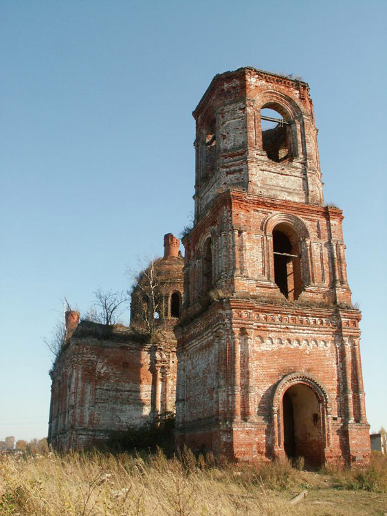
[[[113,292],[113,290],[102,290],[98,287],[93,294],[95,300],[91,309],[85,314],[85,319],[105,325],[117,323],[129,303],[126,292],[124,290]]]

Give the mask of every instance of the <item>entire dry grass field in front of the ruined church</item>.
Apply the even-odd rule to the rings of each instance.
[[[5,455],[0,468],[1,516],[387,515],[387,458],[376,453],[368,469],[320,473],[287,462],[220,467],[189,451]]]

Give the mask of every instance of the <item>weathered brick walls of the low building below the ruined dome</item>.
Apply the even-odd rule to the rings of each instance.
[[[112,327],[110,337],[104,330],[81,325],[52,371],[49,442],[56,448],[87,447],[175,409],[173,334],[151,345],[129,328]]]

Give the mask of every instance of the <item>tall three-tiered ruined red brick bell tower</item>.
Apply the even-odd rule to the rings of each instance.
[[[360,312],[324,206],[309,86],[251,67],[193,112],[177,440],[232,460],[368,460]]]

